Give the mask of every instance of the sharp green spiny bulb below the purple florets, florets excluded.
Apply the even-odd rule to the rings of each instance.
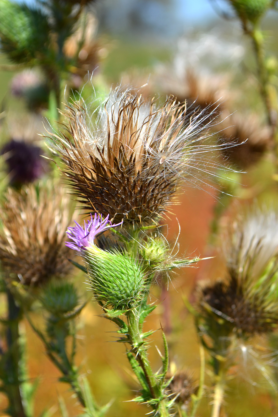
[[[86,249],[86,261],[89,283],[97,301],[116,309],[134,304],[143,287],[144,275],[133,259],[92,245]]]

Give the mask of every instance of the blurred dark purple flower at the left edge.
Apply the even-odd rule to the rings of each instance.
[[[11,184],[25,184],[35,181],[47,171],[43,150],[24,141],[10,140],[1,149],[7,163]]]

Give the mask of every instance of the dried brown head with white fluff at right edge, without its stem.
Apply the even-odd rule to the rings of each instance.
[[[278,216],[235,222],[225,247],[228,279],[199,289],[199,309],[227,333],[267,333],[278,325]]]

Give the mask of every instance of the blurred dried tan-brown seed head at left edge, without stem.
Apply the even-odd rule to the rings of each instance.
[[[0,220],[0,261],[7,279],[36,286],[69,272],[65,238],[71,209],[61,186],[8,189]]]

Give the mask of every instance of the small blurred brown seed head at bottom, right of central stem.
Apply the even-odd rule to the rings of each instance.
[[[188,372],[176,372],[172,377],[168,375],[168,379],[170,379],[168,388],[171,391],[170,394],[176,398],[175,402],[188,404],[191,396],[197,393],[198,385]]]

